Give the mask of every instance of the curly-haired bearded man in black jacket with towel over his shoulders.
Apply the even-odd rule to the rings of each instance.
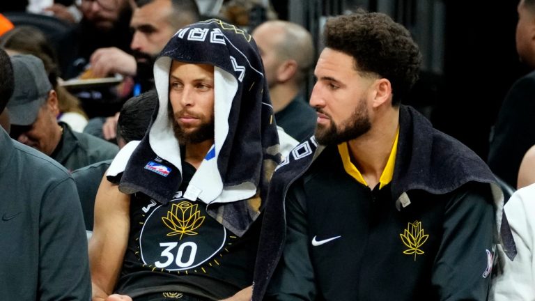
[[[503,195],[401,105],[421,62],[409,31],[359,10],[324,37],[315,135],[272,177],[253,300],[486,300]]]

